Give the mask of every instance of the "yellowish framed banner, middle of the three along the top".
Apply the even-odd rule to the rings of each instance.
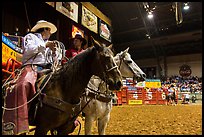
[[[81,24],[89,30],[98,33],[97,16],[89,11],[86,7],[82,6],[82,19]]]

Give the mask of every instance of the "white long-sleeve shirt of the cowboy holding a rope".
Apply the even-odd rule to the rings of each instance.
[[[45,45],[46,45],[46,41],[43,40],[42,35],[40,33],[27,34],[24,37],[23,59],[22,59],[23,65],[48,63],[46,61],[46,52],[48,48],[46,48]]]

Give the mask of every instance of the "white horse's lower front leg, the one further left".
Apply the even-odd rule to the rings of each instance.
[[[85,135],[91,135],[91,129],[92,129],[92,123],[94,122],[94,117],[85,116],[85,123],[84,123],[84,127],[85,127]]]

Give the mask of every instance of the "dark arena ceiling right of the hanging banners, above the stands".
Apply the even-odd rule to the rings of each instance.
[[[135,60],[202,53],[202,2],[179,2],[183,16],[176,23],[175,2],[91,2],[112,21],[112,40],[117,52],[130,47]],[[154,18],[147,18],[144,5],[153,10]],[[149,34],[150,39],[146,36]]]

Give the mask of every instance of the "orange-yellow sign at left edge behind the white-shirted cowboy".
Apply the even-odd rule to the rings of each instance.
[[[16,60],[16,51],[2,42],[2,64],[6,63],[9,58]]]

